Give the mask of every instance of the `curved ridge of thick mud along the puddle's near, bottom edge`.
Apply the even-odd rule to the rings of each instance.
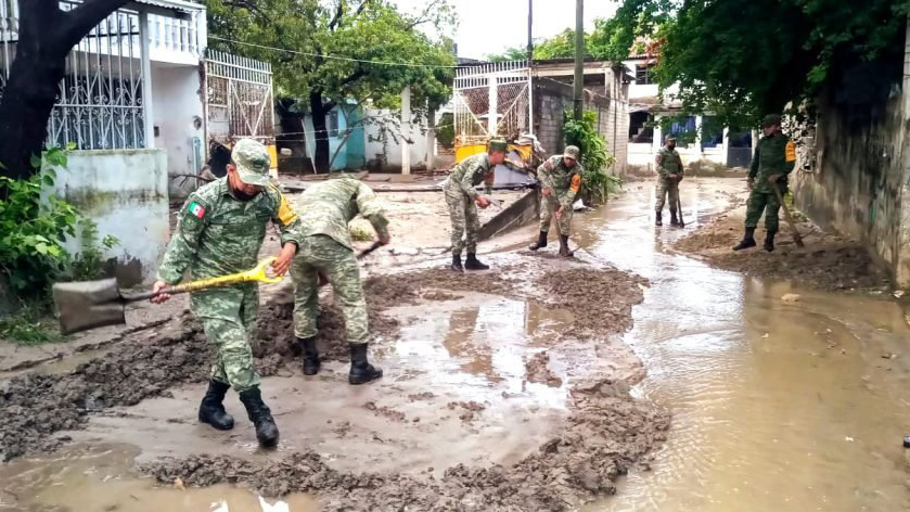
[[[567,427],[536,453],[512,466],[459,464],[438,479],[338,472],[313,452],[266,463],[195,456],[142,470],[163,483],[243,484],[265,496],[311,492],[324,511],[569,510],[615,492],[614,482],[630,468],[648,469],[649,451],[665,439],[669,426],[666,414],[632,400],[623,382],[580,384],[572,397]]]

